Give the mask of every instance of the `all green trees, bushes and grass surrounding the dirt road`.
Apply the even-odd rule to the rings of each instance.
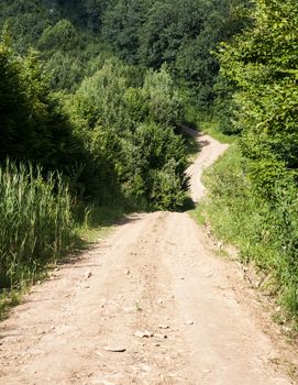
[[[232,142],[203,210],[297,317],[296,0],[3,0],[0,30],[2,290],[93,208],[188,209],[188,125]]]

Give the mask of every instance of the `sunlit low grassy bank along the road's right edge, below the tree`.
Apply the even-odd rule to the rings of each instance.
[[[209,195],[194,216],[200,224],[208,223],[217,239],[239,250],[245,271],[257,274],[255,286],[271,301],[274,320],[293,339],[298,331],[296,200],[282,196],[275,206],[263,200],[251,186],[246,167],[235,142],[205,172]]]

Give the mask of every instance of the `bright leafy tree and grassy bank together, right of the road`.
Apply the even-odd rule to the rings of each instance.
[[[205,174],[210,190],[205,209],[216,234],[262,272],[262,289],[285,310],[276,306],[275,318],[295,327],[297,23],[297,2],[254,1],[251,26],[219,48],[220,77],[234,85],[228,131],[236,140]],[[224,124],[222,131],[227,133]]]

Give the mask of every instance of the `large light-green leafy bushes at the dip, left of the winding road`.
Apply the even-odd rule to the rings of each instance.
[[[66,108],[96,169],[109,169],[98,173],[98,188],[109,186],[113,175],[131,207],[181,207],[186,153],[170,128],[179,123],[179,98],[165,69],[148,72],[137,88],[132,87],[132,69],[117,59],[106,62]]]

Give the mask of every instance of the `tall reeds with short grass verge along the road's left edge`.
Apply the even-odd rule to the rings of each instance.
[[[119,208],[74,207],[58,173],[45,177],[40,167],[10,162],[0,168],[0,319],[31,285],[123,216]]]

